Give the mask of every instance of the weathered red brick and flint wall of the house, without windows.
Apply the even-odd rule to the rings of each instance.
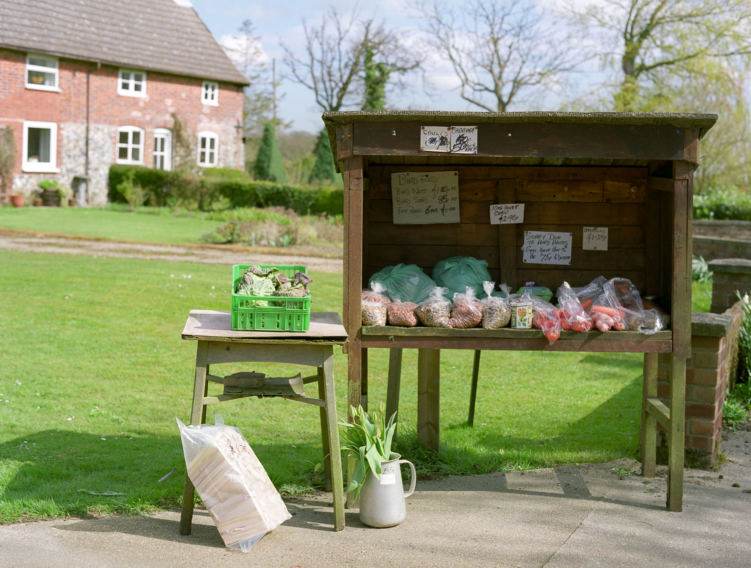
[[[75,125],[86,124],[86,74],[89,72],[89,131],[113,133],[116,127],[132,125],[143,128],[143,163],[153,163],[154,128],[170,128],[171,113],[176,113],[188,131],[213,131],[219,135],[219,166],[244,167],[242,134],[235,126],[243,122],[243,91],[240,86],[219,83],[219,105],[201,103],[202,80],[178,77],[149,71],[146,73],[146,97],[128,97],[117,94],[119,68],[98,66],[89,62],[59,59],[60,92],[26,89],[26,53],[0,50],[0,126],[14,128],[17,148],[16,179],[14,189],[26,195],[35,188],[38,180],[57,177],[70,185],[73,177],[85,174],[86,137],[76,134],[63,144],[63,125],[69,132],[80,131]],[[57,160],[59,174],[27,174],[22,171],[23,121],[56,122]],[[85,128],[84,128],[85,131]],[[92,144],[89,139],[89,165],[91,153],[98,153],[98,162],[115,162],[116,134],[112,144]],[[78,147],[75,142],[77,141]],[[80,157],[83,156],[83,160]],[[101,165],[100,165],[101,168]],[[99,176],[98,186],[92,177],[89,192],[98,196],[94,201],[106,201],[107,187]]]

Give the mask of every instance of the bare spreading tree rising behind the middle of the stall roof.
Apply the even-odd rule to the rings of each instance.
[[[461,97],[484,110],[505,112],[520,92],[552,86],[578,62],[527,0],[473,0],[459,15],[439,0],[413,7],[429,43],[451,62]]]

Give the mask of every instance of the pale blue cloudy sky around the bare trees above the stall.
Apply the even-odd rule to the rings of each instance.
[[[552,1],[552,0],[551,0]],[[243,0],[192,0],[193,7],[204,20],[214,37],[225,45],[237,44],[233,38],[243,20],[252,20],[255,32],[261,36],[261,50],[264,59],[270,62],[276,58],[277,74],[281,77],[279,117],[292,122],[292,128],[315,132],[321,129],[321,108],[308,89],[285,79],[287,69],[282,62],[283,52],[280,41],[296,53],[303,53],[303,18],[309,25],[320,23],[329,6],[340,14],[351,14],[354,3],[346,0],[330,2],[305,2],[304,0],[284,0],[283,2],[247,2]],[[457,5],[460,3],[457,2]],[[411,17],[405,0],[369,0],[358,4],[362,17],[374,17],[385,22],[390,29],[398,29],[406,44],[419,40],[418,21]],[[399,109],[432,110],[482,110],[460,98],[458,80],[448,66],[437,55],[428,61],[427,77],[433,89],[426,92],[421,78],[415,74],[409,77],[409,88],[388,98],[388,107]],[[529,106],[517,106],[509,110],[555,110],[560,95],[548,95],[528,102]],[[349,110],[349,109],[346,109]]]

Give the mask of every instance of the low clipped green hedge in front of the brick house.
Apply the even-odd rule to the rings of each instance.
[[[162,207],[181,203],[207,209],[225,198],[231,207],[282,206],[301,215],[341,215],[344,212],[342,189],[251,180],[245,172],[229,168],[208,168],[200,177],[192,177],[141,166],[113,165],[110,166],[110,201],[125,203],[117,186],[130,171],[133,182],[146,189],[149,195],[146,203]]]

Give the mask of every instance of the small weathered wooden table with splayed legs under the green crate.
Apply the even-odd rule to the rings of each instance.
[[[230,313],[216,310],[191,310],[182,339],[198,340],[191,424],[204,424],[206,406],[252,395],[219,394],[209,396],[209,382],[224,384],[222,376],[210,374],[211,364],[266,361],[316,367],[316,374],[303,377],[303,383],[318,383],[318,398],[286,396],[289,400],[314,404],[321,409],[321,438],[324,453],[326,490],[333,491],[334,530],[344,528],[342,457],[336,419],[336,395],[333,379],[333,346],[345,346],[347,332],[339,314],[310,314],[310,329],[295,331],[236,331],[231,328]],[[278,395],[273,395],[278,396]],[[182,494],[180,534],[190,534],[195,488],[185,474]]]

